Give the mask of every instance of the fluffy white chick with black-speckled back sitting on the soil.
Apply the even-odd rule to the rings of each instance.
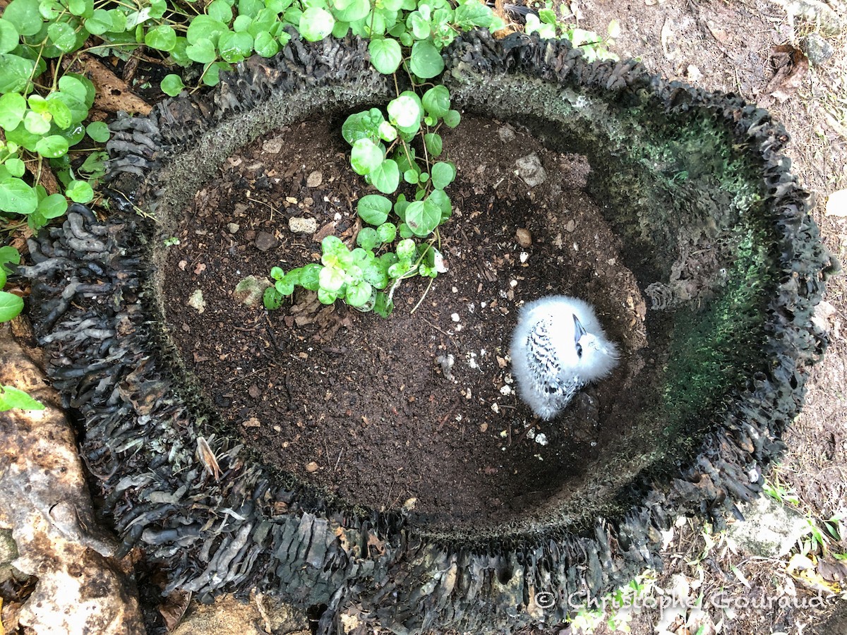
[[[510,355],[521,399],[545,421],[585,384],[611,373],[618,360],[591,305],[567,295],[523,306]]]

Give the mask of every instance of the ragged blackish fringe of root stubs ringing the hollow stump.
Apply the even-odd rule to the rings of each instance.
[[[166,100],[147,118],[112,124],[108,179],[119,212],[99,221],[72,206],[61,228],[30,240],[32,264],[21,268],[32,279],[31,313],[50,377],[65,406],[84,417],[82,452],[123,552],[140,545],[161,563],[165,593],[275,591],[324,607],[321,633],[339,631],[349,610],[397,633],[560,623],[574,599],[596,599],[660,567],[661,530],[679,514],[701,512],[722,527],[726,514],[739,513],[736,502],[760,493],[761,478],[750,471],[784,450],[780,437],[800,410],[807,367],[825,345],[811,312],[836,265],[779,154],[788,135],[766,111],[648,75],[634,61],[585,63],[565,42],[467,34],[445,53],[459,92],[462,78],[516,75],[609,102],[647,94],[673,116],[708,109],[756,157],[780,272],[767,307],[767,363],[730,391],[722,422],[695,457],[662,482],[633,483],[627,495],[637,502],[587,531],[553,524],[478,540],[433,537],[401,514],[353,507],[258,465],[235,436],[214,439],[216,481],[195,456],[213,413],[185,397],[163,352],[151,284],[155,224],[133,207],[155,213],[174,157],[274,96],[294,102],[334,86],[357,86],[374,99],[387,94],[366,50],[362,41],[294,38],[274,59],[239,65],[209,97]],[[555,595],[554,606],[535,603],[541,591]]]

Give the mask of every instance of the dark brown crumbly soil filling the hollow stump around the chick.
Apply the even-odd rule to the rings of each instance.
[[[645,306],[583,191],[588,163],[522,130],[463,120],[445,139],[460,175],[441,233],[450,270],[429,289],[404,281],[388,319],[303,290],[277,312],[235,301],[248,275],[317,262],[324,235],[355,240],[355,201],[369,189],[337,130],[280,130],[197,193],[166,262],[174,341],[268,463],[346,500],[413,507],[422,522],[509,522],[578,483],[639,408],[629,387],[645,365]],[[530,190],[515,160],[532,152],[548,179]],[[293,234],[289,218],[314,218],[318,231]],[[518,228],[531,246],[518,245]],[[197,290],[202,312],[189,303]],[[520,304],[559,293],[595,303],[623,362],[558,420],[539,422],[517,398],[508,345]],[[450,377],[439,356],[453,356]]]

